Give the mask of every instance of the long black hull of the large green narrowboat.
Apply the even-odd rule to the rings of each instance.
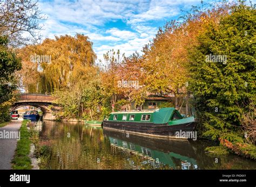
[[[103,128],[126,133],[142,134],[156,136],[159,138],[178,138],[188,139],[183,134],[192,133],[196,123],[184,123],[179,125],[153,124],[153,123],[137,123],[129,121],[103,121]]]

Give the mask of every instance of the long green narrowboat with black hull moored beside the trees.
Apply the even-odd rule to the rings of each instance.
[[[185,117],[174,107],[153,111],[112,112],[103,120],[103,128],[160,138],[190,139],[196,135],[193,116]]]

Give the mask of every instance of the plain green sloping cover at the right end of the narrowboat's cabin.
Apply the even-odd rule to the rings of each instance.
[[[154,111],[153,123],[154,124],[166,124],[170,120],[175,108],[167,107]]]

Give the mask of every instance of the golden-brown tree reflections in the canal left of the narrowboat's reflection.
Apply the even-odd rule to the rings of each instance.
[[[70,133],[70,138],[68,137]],[[41,143],[51,147],[50,169],[154,169],[145,157],[110,145],[101,128],[84,124],[45,123]],[[164,169],[159,166],[158,169]]]

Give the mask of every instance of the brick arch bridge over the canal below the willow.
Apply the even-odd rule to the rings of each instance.
[[[38,93],[22,93],[19,95],[17,102],[11,107],[11,111],[14,111],[22,106],[35,106],[40,107],[43,111],[43,119],[55,120],[55,116],[52,115],[52,111],[59,110],[59,106],[54,103],[56,97],[50,95],[42,95]],[[49,106],[52,105],[51,109]]]

